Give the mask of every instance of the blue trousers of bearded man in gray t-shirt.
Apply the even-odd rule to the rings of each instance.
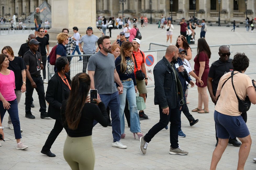
[[[112,119],[112,135],[113,141],[120,141],[121,139],[121,128],[120,128],[120,118],[119,118],[119,95],[118,92],[112,94],[100,94],[101,101],[104,105],[110,108],[111,111],[111,119]],[[96,120],[93,121],[93,127],[98,122]]]

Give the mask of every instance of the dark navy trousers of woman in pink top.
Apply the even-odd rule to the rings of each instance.
[[[41,78],[42,80],[42,78]],[[19,113],[18,113],[18,102],[17,99],[13,101],[8,101],[10,105],[10,109],[8,109],[8,113],[10,115],[10,118],[13,123],[14,128],[14,135],[15,139],[21,139],[21,133],[20,133],[20,119],[19,119]],[[30,104],[29,104],[30,105]],[[6,112],[6,109],[3,107],[3,102],[0,100],[0,113],[1,113],[1,122],[3,122],[3,117]]]

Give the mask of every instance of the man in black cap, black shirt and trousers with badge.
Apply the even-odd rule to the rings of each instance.
[[[39,52],[37,52],[38,48],[39,48],[39,44],[40,42],[38,42],[36,39],[31,39],[29,41],[29,47],[30,50],[28,50],[25,54],[24,54],[24,61],[25,64],[27,66],[26,69],[26,76],[27,76],[27,80],[26,80],[26,91],[27,91],[27,95],[26,95],[26,107],[25,107],[25,112],[26,115],[25,117],[29,118],[29,119],[34,119],[35,116],[32,115],[31,113],[31,98],[32,98],[32,94],[34,91],[34,88],[37,91],[38,94],[38,99],[39,99],[39,104],[40,104],[40,112],[41,112],[41,118],[46,118],[47,116],[47,112],[46,112],[46,103],[45,103],[45,93],[44,93],[44,86],[43,86],[43,80],[41,77],[41,71],[43,69],[43,63],[42,63],[42,57],[41,54]]]

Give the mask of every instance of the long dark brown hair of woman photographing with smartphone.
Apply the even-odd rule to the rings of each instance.
[[[72,130],[77,129],[81,119],[82,110],[90,90],[91,79],[86,73],[78,73],[72,79],[71,92],[66,106],[66,123]]]

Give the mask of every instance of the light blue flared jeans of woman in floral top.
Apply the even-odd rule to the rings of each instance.
[[[120,99],[120,107],[119,107],[119,116],[120,116],[120,124],[121,124],[121,134],[124,134],[124,108],[125,108],[125,100],[127,98],[129,102],[130,109],[130,131],[132,133],[141,132],[140,126],[140,118],[138,115],[137,105],[136,105],[136,93],[133,81],[125,81],[122,82],[124,89],[123,94],[119,94]]]

